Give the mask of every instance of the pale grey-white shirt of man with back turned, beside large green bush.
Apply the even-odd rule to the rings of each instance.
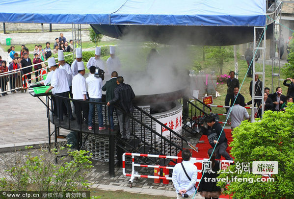
[[[229,115],[230,111],[231,111],[231,114]],[[244,108],[241,105],[234,105],[230,107],[227,114],[227,118],[231,118],[231,127],[233,128],[236,128],[237,126],[239,126],[241,122],[244,121],[244,117],[246,119],[249,119],[249,114],[246,108]]]

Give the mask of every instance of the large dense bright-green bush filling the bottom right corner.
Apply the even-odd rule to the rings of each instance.
[[[240,163],[250,163],[250,173],[222,173],[220,178],[232,176],[238,178],[261,178],[252,174],[253,161],[278,161],[278,174],[271,177],[274,182],[230,182],[225,191],[236,199],[293,199],[294,198],[294,105],[289,103],[285,112],[266,111],[263,119],[249,123],[243,121],[234,129],[234,140],[230,144],[235,164],[230,166],[232,172],[238,170]],[[218,182],[224,187],[227,182]]]

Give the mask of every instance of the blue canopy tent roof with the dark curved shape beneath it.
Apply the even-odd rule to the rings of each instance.
[[[90,24],[115,38],[133,32],[169,43],[181,35],[199,45],[252,41],[267,16],[265,0],[0,0],[0,7],[0,22]]]

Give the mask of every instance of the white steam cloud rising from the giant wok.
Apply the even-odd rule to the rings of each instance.
[[[147,60],[152,44],[146,42],[142,45],[142,42],[136,41],[148,41],[148,38],[138,38],[137,32],[130,32],[116,47],[116,54],[122,63],[118,75],[123,76],[124,82],[132,86],[135,95],[162,94],[187,88],[187,66],[191,65],[191,60],[188,59],[186,45],[159,45],[159,48],[155,47],[157,52]],[[181,42],[174,39],[171,43]]]

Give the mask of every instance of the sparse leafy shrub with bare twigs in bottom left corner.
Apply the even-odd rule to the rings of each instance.
[[[51,152],[37,149],[34,155],[30,151],[27,155],[23,152],[1,154],[1,190],[62,192],[88,189],[86,177],[93,167],[89,151],[67,149],[68,156],[58,158],[57,163],[55,158],[59,152],[56,149]]]

